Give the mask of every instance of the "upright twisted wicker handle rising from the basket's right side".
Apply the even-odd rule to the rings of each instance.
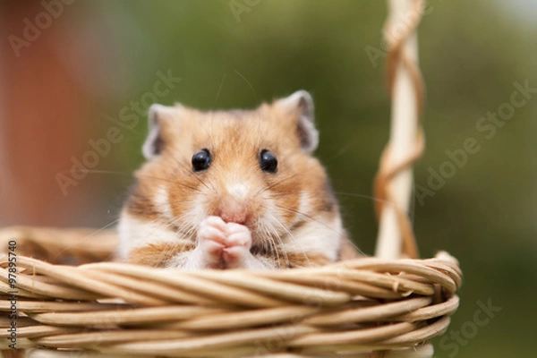
[[[388,43],[388,90],[392,101],[391,132],[375,180],[379,237],[376,256],[418,258],[412,223],[407,214],[412,194],[413,162],[421,157],[424,141],[419,127],[423,107],[422,74],[418,67],[416,28],[422,19],[422,0],[389,0],[384,29]]]

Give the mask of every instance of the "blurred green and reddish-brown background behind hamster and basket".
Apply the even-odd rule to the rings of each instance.
[[[90,149],[90,139],[106,136],[115,125],[111,118],[152,92],[157,72],[171,71],[182,79],[158,99],[166,105],[179,101],[205,109],[256,107],[294,90],[309,90],[321,133],[317,154],[328,168],[355,243],[372,254],[377,223],[369,196],[379,155],[388,141],[390,108],[383,55],[371,59],[367,50],[382,54],[385,49],[381,33],[385,2],[235,3],[246,10],[235,16],[234,2],[228,0],[65,5],[64,13],[20,54],[30,61],[38,56],[32,51],[58,38],[53,56],[60,59],[80,100],[80,113],[69,122],[69,132],[81,144],[58,150],[59,167],[68,170],[70,158],[81,158]],[[34,16],[40,5],[33,6],[26,15],[20,9],[21,17]],[[6,9],[9,13],[4,5]],[[529,81],[537,88],[535,19],[537,4],[531,0],[430,0],[419,29],[427,86],[423,117],[427,149],[415,167],[416,183],[428,187],[431,170],[439,172],[449,160],[446,151],[464,148],[466,139],[474,138],[480,146],[441,188],[432,191],[434,195],[414,203],[422,257],[449,251],[465,273],[460,309],[447,338],[435,340],[436,357],[533,357],[537,352],[533,322],[537,319],[533,304],[537,94],[516,108],[494,135],[476,127],[483,115],[497,112],[511,100],[516,81],[523,85]],[[13,31],[20,33],[22,26],[15,23]],[[13,52],[4,54],[8,55],[13,57]],[[22,70],[38,71],[38,64],[25,64]],[[32,81],[40,80],[24,81],[28,89]],[[41,96],[51,94],[44,91]],[[4,116],[3,121],[13,119]],[[48,127],[45,131],[57,132]],[[54,173],[36,173],[41,182],[54,187],[47,202],[55,202],[55,207],[47,216],[16,216],[13,208],[23,204],[12,201],[8,208],[6,199],[1,223],[113,224],[132,183],[131,173],[142,162],[145,117],[123,133],[124,140],[95,168],[105,173],[88,175],[65,196]],[[10,150],[13,153],[13,147],[4,149],[8,153],[4,157]],[[23,158],[27,166],[30,158]],[[21,161],[8,168],[12,179],[20,173],[18,166]],[[9,191],[4,188],[8,198],[5,192]],[[30,202],[24,205],[30,207]],[[473,324],[480,303],[489,301],[501,311],[487,324]]]

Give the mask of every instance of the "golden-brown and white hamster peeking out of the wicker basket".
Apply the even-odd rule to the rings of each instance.
[[[161,268],[302,268],[359,257],[299,90],[253,110],[149,108],[120,257]]]

